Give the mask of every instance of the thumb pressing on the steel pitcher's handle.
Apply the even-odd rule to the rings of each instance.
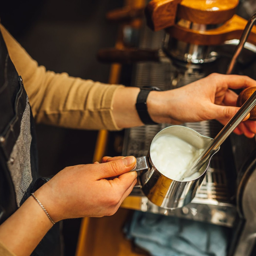
[[[136,158],[134,156],[126,156],[107,163],[95,164],[95,167],[97,168],[97,179],[100,180],[119,176],[131,171],[135,164]]]

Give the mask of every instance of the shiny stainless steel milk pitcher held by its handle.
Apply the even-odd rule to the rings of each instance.
[[[164,134],[175,135],[198,149],[206,148],[213,140],[188,127],[174,125],[158,132],[152,140],[151,145],[159,136]],[[194,180],[179,181],[164,176],[154,166],[150,157],[150,149],[148,156],[137,158],[137,165],[133,171],[138,172],[139,187],[152,203],[165,209],[180,208],[190,203],[195,197],[196,191],[200,188],[204,180],[210,160],[219,149],[212,151],[207,162],[198,170],[200,176]]]

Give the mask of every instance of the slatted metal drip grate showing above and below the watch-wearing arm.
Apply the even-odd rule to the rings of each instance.
[[[153,33],[145,27],[142,29],[141,33],[140,48],[161,48],[163,37],[163,31]],[[134,72],[135,76],[133,79],[134,86],[142,87],[144,85],[152,85],[158,86],[162,90],[180,87],[181,84],[177,85],[176,83],[175,86],[172,84],[173,72],[176,72],[175,67],[170,63],[147,62],[136,64]],[[200,77],[194,76],[193,78],[194,80],[197,80]],[[193,79],[192,76],[185,72],[182,79],[179,81],[182,83],[190,83],[193,82]],[[186,123],[183,125],[204,136],[212,138],[215,137],[221,129],[220,124],[216,121]],[[133,155],[135,157],[146,156],[151,141],[156,133],[167,126],[169,125],[159,124],[127,129],[125,131],[123,155]],[[141,205],[139,208],[138,206],[130,208],[182,218],[208,221],[217,225],[231,227],[235,220],[236,208],[231,204],[230,195],[228,193],[224,157],[225,152],[223,152],[222,148],[212,157],[201,189],[188,206],[185,206],[182,209],[165,210],[148,201],[140,189],[134,188],[131,196],[140,196]]]

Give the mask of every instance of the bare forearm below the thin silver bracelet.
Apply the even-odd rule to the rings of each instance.
[[[30,255],[52,225],[40,205],[30,196],[0,225],[0,242],[17,256]]]

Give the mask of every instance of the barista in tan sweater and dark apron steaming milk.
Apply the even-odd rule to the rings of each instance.
[[[246,76],[212,74],[179,89],[140,93],[46,71],[2,25],[0,31],[0,255],[58,255],[54,233],[60,220],[112,215],[136,183],[137,173],[129,172],[135,157],[104,157],[101,164],[66,167],[32,196],[38,178],[34,119],[108,130],[143,122],[226,124],[239,109],[230,89],[256,86]],[[135,107],[139,93],[146,112]],[[252,138],[256,123],[244,121],[235,133]]]

